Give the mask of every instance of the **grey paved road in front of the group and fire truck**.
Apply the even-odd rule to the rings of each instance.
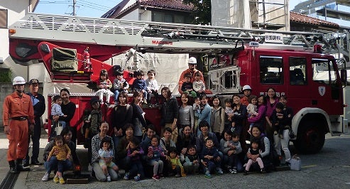
[[[45,173],[42,166],[32,166],[30,172],[22,172],[15,188],[350,188],[350,134],[326,136],[324,148],[316,155],[301,155],[302,171],[278,171],[261,175],[254,173],[244,176],[214,175],[212,179],[204,175],[189,175],[185,178],[165,178],[163,180],[119,180],[99,183],[92,180],[88,185],[60,185],[51,179],[41,181]],[[45,139],[41,140],[40,156],[43,154]],[[7,139],[0,134],[0,179],[9,170],[6,161]],[[85,149],[77,150],[78,156],[86,158]],[[86,161],[86,159],[83,159]]]

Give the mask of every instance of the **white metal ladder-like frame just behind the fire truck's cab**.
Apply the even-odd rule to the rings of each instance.
[[[239,93],[241,89],[241,85],[239,85],[240,73],[241,68],[235,65],[209,70],[209,90],[219,94]]]

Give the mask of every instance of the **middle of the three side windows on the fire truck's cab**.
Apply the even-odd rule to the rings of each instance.
[[[289,58],[290,85],[306,85],[306,58]]]

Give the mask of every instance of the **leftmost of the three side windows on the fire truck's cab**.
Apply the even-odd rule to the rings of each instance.
[[[260,57],[260,82],[263,84],[283,84],[282,57]]]

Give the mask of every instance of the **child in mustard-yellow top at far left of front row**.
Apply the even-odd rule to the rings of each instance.
[[[60,135],[55,136],[55,146],[53,146],[53,149],[48,154],[47,161],[50,161],[50,158],[54,156],[53,153],[55,153],[55,151],[58,151],[58,153],[55,155],[58,160],[58,171],[56,172],[56,175],[53,178],[53,182],[64,184],[65,179],[63,179],[62,177],[62,172],[64,171],[65,167],[68,167],[71,164],[69,161],[71,151],[70,147],[68,147],[67,144],[63,143],[63,137]]]

